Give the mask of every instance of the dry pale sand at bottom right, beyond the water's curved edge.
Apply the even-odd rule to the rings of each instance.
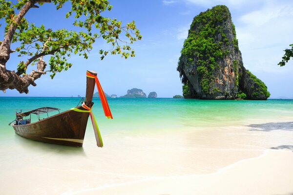
[[[293,174],[293,168],[291,166],[291,163],[293,162],[292,152],[293,151],[266,149],[260,156],[242,159],[226,167],[220,168],[215,173],[188,176],[157,176],[122,184],[111,184],[71,193],[63,193],[62,195],[96,195],[97,193],[103,195],[194,195],[194,193],[200,195],[288,194],[293,192],[293,186],[291,185],[293,179],[290,179],[290,176]],[[272,166],[273,168],[278,167],[279,170],[262,167],[266,164],[264,162],[270,162],[270,160],[276,156],[278,158],[275,159],[273,163],[270,163],[269,166]],[[286,158],[285,161],[284,158]],[[290,161],[288,162],[288,160]],[[239,174],[243,174],[244,176],[254,175],[255,177],[242,178],[241,182],[243,183],[240,184],[235,180],[237,178],[241,179]],[[265,179],[270,176],[275,176],[276,174],[278,176],[283,176],[283,179]],[[254,182],[256,180],[258,182]],[[284,182],[284,180],[287,180],[287,182]],[[272,186],[267,185],[267,182],[271,183]],[[228,183],[231,188],[223,187]],[[178,184],[181,185],[179,186]],[[234,188],[235,186],[237,186],[237,189]],[[279,186],[282,186],[281,190]],[[202,191],[203,189],[204,192]]]

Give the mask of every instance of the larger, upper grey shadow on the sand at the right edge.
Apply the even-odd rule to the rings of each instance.
[[[248,127],[251,127],[250,131],[293,131],[293,122],[269,122],[263,124],[251,124],[248,125]]]

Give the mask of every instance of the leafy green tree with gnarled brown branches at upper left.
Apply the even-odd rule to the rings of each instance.
[[[65,18],[73,17],[73,25],[80,27],[79,31],[52,30],[43,24],[36,26],[25,18],[30,9],[39,8],[44,3],[54,3],[58,10],[67,1],[71,2],[71,9]],[[102,15],[111,8],[108,0],[18,0],[17,3],[0,0],[0,25],[5,25],[4,38],[0,41],[0,90],[16,89],[27,94],[28,87],[36,86],[35,80],[46,72],[54,78],[56,73],[70,68],[72,63],[67,61],[70,55],[87,59],[99,38],[112,46],[110,50],[99,51],[101,59],[109,53],[125,59],[134,57],[134,50],[129,45],[142,38],[140,31],[134,21],[123,25],[120,20]],[[11,48],[12,43],[19,46]],[[27,60],[20,61],[15,70],[10,71],[6,69],[6,62],[14,52],[19,57],[26,56]],[[50,56],[48,62],[44,61],[44,56]],[[34,69],[27,73],[29,65],[34,65]]]

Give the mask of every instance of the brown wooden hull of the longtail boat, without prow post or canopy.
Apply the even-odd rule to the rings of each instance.
[[[78,109],[84,110],[81,106]],[[89,113],[67,110],[63,113],[47,117],[34,123],[16,125],[15,132],[29,139],[82,147]]]

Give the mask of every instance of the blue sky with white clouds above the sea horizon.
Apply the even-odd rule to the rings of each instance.
[[[135,58],[109,55],[101,61],[98,51],[107,45],[98,41],[89,59],[71,57],[69,61],[74,64],[71,69],[57,74],[53,80],[49,74],[39,78],[36,87],[29,87],[29,94],[6,90],[0,96],[84,96],[86,70],[98,72],[102,87],[109,95],[123,96],[131,88],[142,89],[146,95],[155,91],[159,98],[181,95],[182,84],[176,67],[189,25],[200,12],[225,4],[236,27],[244,66],[265,82],[271,98],[293,98],[293,60],[284,67],[277,66],[283,50],[293,43],[292,0],[110,0],[110,3],[113,9],[105,15],[123,23],[135,20],[141,31],[143,39],[133,45]],[[52,3],[45,3],[31,9],[26,18],[36,25],[43,23],[46,28],[71,29],[72,20],[64,17],[68,8],[56,11]],[[3,32],[3,27],[0,30]],[[11,55],[7,69],[15,70],[19,61],[16,54]]]

